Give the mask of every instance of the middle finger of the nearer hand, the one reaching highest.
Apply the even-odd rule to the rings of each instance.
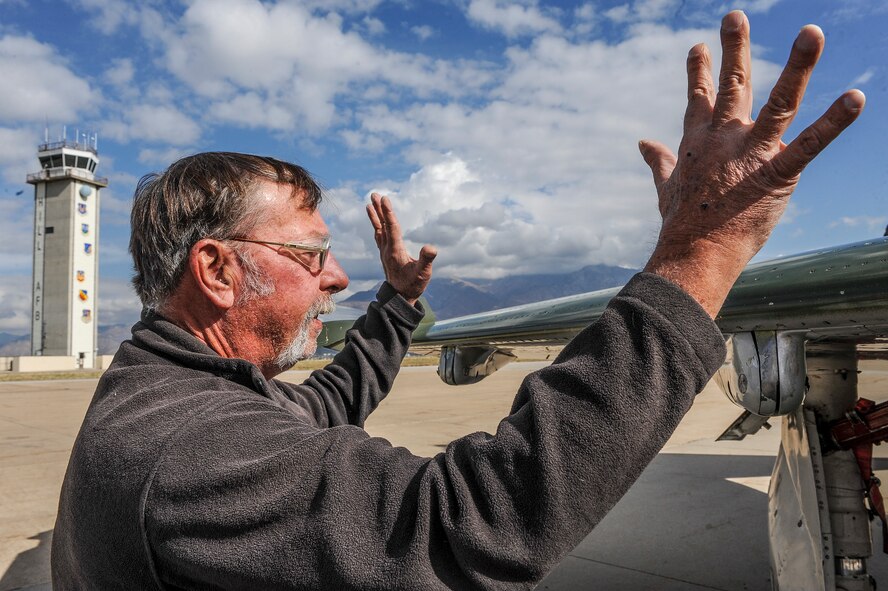
[[[722,19],[721,43],[722,64],[712,117],[716,126],[735,119],[746,122],[752,108],[749,21],[742,11],[734,10]]]

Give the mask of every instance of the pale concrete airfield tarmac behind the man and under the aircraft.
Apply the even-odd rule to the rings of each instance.
[[[463,387],[443,384],[433,367],[404,368],[367,430],[416,454],[438,453],[461,435],[494,431],[524,375],[542,365],[512,364]],[[862,395],[884,399],[888,372],[865,376]],[[58,492],[95,384],[0,383],[0,591],[50,589]],[[739,413],[707,386],[635,486],[538,589],[770,589],[766,491],[779,421],[741,442],[715,442]],[[880,476],[888,482],[888,472]],[[878,549],[881,532],[873,532]],[[870,570],[888,584],[888,556],[876,554]]]

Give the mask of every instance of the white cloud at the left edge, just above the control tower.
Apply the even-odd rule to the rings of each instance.
[[[0,123],[75,121],[98,100],[86,81],[68,69],[55,49],[30,37],[0,38]]]

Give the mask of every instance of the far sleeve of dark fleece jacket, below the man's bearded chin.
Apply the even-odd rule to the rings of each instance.
[[[289,399],[314,415],[318,426],[357,425],[392,389],[410,337],[422,320],[421,304],[411,306],[384,282],[367,313],[346,334],[345,347],[300,385],[275,381]]]

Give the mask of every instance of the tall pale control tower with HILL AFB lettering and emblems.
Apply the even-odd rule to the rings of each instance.
[[[46,141],[37,148],[42,170],[34,185],[34,279],[31,354],[75,357],[95,366],[99,287],[97,138]]]

